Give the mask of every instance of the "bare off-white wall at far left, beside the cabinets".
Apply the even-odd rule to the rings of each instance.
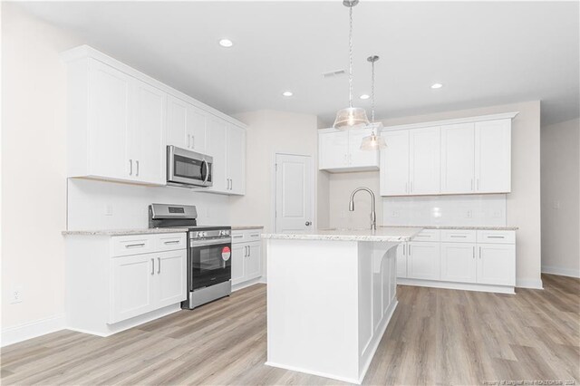
[[[2,2],[2,329],[64,313],[65,67],[82,42]],[[14,288],[23,302],[9,304]]]

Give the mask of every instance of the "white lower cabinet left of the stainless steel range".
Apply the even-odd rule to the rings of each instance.
[[[67,236],[67,328],[106,336],[179,310],[186,239],[185,232]]]

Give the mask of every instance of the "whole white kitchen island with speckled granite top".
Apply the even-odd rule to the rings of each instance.
[[[397,306],[396,246],[420,230],[262,235],[266,364],[361,383]]]

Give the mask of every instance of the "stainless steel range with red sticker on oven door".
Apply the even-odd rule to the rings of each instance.
[[[151,204],[149,227],[187,227],[188,299],[181,308],[192,310],[232,291],[231,227],[198,227],[192,205]]]

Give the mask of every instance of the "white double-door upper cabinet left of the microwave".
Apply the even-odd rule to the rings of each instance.
[[[165,185],[166,92],[86,58],[67,97],[68,177]]]

